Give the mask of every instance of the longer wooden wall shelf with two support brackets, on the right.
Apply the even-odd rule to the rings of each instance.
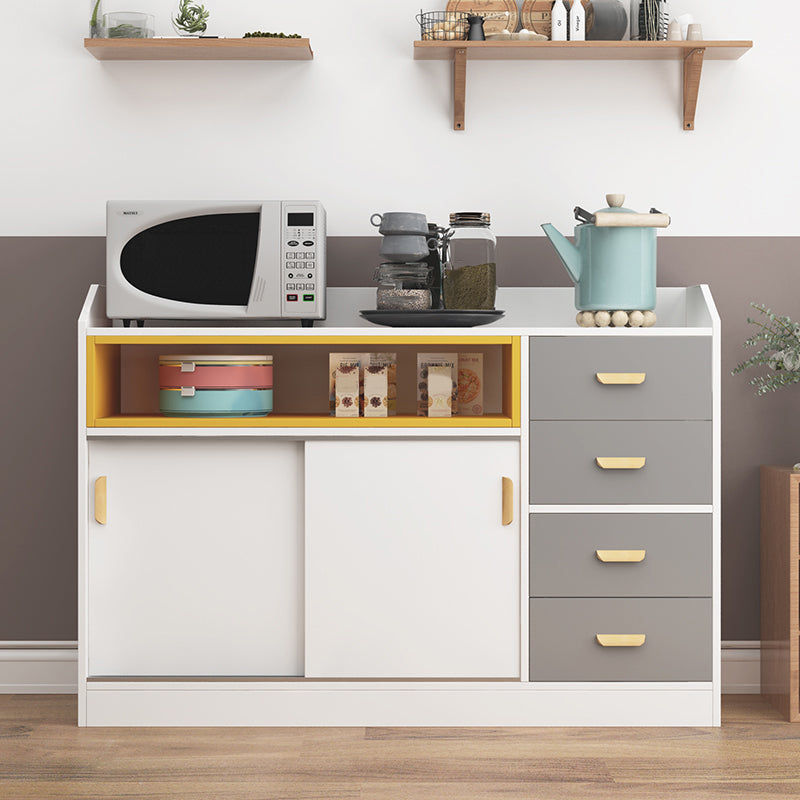
[[[414,42],[417,61],[453,62],[453,129],[464,130],[467,61],[683,61],[683,129],[694,130],[704,59],[733,61],[750,41],[718,42]]]

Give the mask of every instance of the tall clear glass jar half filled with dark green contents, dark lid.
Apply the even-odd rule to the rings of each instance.
[[[490,216],[481,211],[450,215],[442,288],[444,307],[494,309],[497,294],[497,240]]]

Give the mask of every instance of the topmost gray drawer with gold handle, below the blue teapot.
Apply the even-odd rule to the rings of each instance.
[[[711,337],[534,337],[530,376],[531,419],[711,419]]]

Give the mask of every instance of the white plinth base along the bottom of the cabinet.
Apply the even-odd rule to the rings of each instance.
[[[91,682],[89,726],[714,726],[707,683]]]

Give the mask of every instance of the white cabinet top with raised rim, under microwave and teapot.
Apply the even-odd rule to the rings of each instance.
[[[719,324],[707,286],[667,287],[657,290],[658,322],[651,328],[580,328],[575,322],[574,290],[569,287],[499,287],[496,308],[504,316],[473,328],[388,327],[364,319],[359,310],[375,308],[374,287],[329,287],[327,318],[312,328],[296,320],[148,320],[143,328],[124,328],[105,316],[103,287],[92,286],[80,316],[81,330],[92,336],[323,336],[452,337],[494,336],[680,336],[711,335]]]

